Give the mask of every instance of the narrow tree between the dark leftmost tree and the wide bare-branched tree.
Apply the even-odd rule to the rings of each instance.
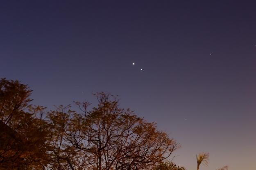
[[[48,151],[51,161],[47,167],[57,170],[80,170],[85,168],[83,155],[80,150],[72,146],[67,140],[68,122],[70,122],[72,114],[70,105],[63,107],[60,105],[56,110],[47,114],[48,123],[50,125],[50,139],[48,143]]]

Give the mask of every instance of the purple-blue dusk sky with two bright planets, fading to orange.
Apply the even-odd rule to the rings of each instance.
[[[93,92],[155,122],[195,170],[256,169],[255,1],[2,1],[0,78],[32,104],[96,104]],[[132,63],[135,63],[134,65]],[[142,70],[141,70],[142,69]]]

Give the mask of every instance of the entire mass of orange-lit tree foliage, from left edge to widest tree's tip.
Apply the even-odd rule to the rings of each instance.
[[[0,167],[40,170],[152,169],[179,148],[155,123],[148,123],[118,99],[95,94],[88,102],[60,105],[56,110],[32,106],[32,90],[18,81],[0,81]],[[0,169],[1,169],[0,168]],[[177,169],[178,170],[178,169]]]

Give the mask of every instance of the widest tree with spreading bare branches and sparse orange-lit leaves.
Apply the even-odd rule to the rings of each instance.
[[[89,169],[152,169],[168,158],[179,144],[129,109],[118,106],[109,94],[95,94],[99,104],[87,112],[89,103],[76,104],[83,114],[72,112],[65,130],[65,141],[80,151]]]

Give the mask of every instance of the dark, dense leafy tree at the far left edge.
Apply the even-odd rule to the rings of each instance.
[[[31,92],[19,81],[0,80],[1,168],[36,169],[47,157],[47,126],[35,117],[44,108],[29,105]]]

